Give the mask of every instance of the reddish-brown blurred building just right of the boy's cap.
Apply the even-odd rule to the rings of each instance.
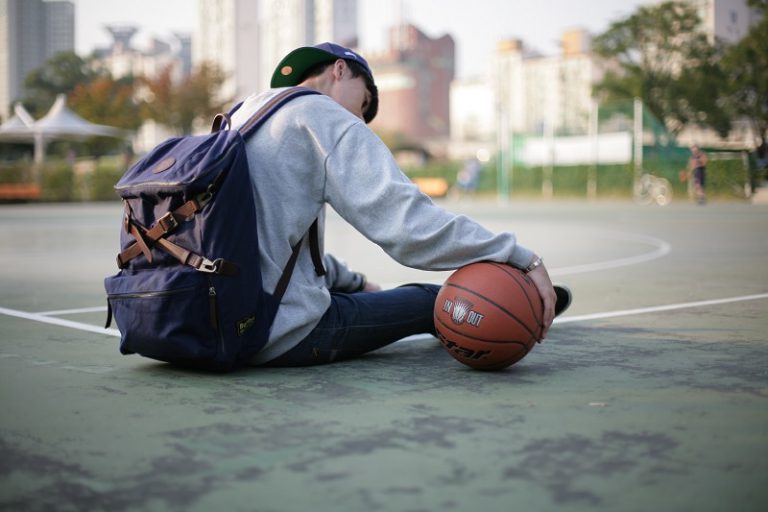
[[[450,134],[455,53],[450,35],[432,39],[410,24],[393,27],[388,48],[367,56],[380,95],[371,128],[444,147]]]

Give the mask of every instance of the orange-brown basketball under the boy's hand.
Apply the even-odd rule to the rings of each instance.
[[[457,361],[501,370],[521,360],[541,338],[543,306],[533,281],[501,263],[455,271],[435,301],[435,329]]]

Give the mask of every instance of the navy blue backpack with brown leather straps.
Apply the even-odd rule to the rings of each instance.
[[[104,286],[123,354],[228,371],[267,342],[303,238],[277,288],[264,290],[245,141],[305,94],[316,92],[286,89],[239,130],[222,129],[229,115],[219,114],[212,133],[163,142],[115,185],[125,204],[120,271]],[[322,275],[317,220],[308,233]]]

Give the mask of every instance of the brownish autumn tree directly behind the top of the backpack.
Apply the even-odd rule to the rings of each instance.
[[[157,77],[144,79],[148,94],[146,115],[182,134],[192,132],[198,118],[212,118],[229,100],[217,100],[224,73],[210,64],[203,64],[181,83],[174,83],[173,69],[165,68]]]

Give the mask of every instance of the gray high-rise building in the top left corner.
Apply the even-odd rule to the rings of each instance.
[[[0,0],[0,117],[24,95],[24,79],[60,52],[75,49],[69,1]]]

